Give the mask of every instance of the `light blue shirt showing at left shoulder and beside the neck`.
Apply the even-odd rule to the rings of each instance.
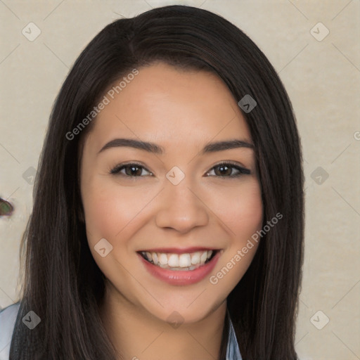
[[[16,303],[0,310],[0,360],[8,360],[11,338],[13,337],[13,330],[19,308],[20,303]],[[229,337],[226,347],[226,360],[243,360],[231,319],[229,319]]]

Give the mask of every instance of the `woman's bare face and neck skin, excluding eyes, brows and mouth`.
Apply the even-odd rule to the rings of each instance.
[[[150,141],[162,155],[130,147],[101,148],[116,138]],[[209,72],[164,63],[137,75],[101,111],[86,136],[81,193],[89,248],[105,274],[100,309],[110,340],[124,359],[219,359],[226,297],[248,269],[258,244],[216,285],[211,275],[226,266],[262,226],[262,198],[254,150],[232,148],[200,154],[205,144],[240,139],[250,131],[226,85]],[[221,161],[250,169],[214,168]],[[138,177],[116,165],[141,162]],[[176,186],[165,176],[177,166]],[[151,175],[152,174],[152,175]],[[210,176],[206,176],[209,174]],[[101,257],[101,238],[113,245]],[[200,246],[221,249],[210,276],[192,285],[169,285],[146,271],[137,251]],[[177,311],[183,323],[167,319]]]

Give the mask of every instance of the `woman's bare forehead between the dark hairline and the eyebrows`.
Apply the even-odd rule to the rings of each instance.
[[[158,63],[139,68],[138,75],[116,88],[121,81],[111,87],[117,91],[105,93],[108,104],[91,130],[98,149],[117,136],[156,141],[165,148],[236,136],[251,141],[236,100],[211,72]]]

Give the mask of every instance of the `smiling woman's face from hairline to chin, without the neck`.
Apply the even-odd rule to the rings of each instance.
[[[116,302],[199,321],[226,300],[257,249],[252,241],[243,251],[262,226],[248,126],[208,72],[158,63],[117,92],[105,94],[82,153],[90,250]]]

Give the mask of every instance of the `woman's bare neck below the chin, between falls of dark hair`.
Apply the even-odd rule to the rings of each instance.
[[[113,285],[107,284],[100,316],[117,359],[220,359],[226,302],[205,319],[173,327],[143,307],[123,297],[120,300],[116,293]]]

